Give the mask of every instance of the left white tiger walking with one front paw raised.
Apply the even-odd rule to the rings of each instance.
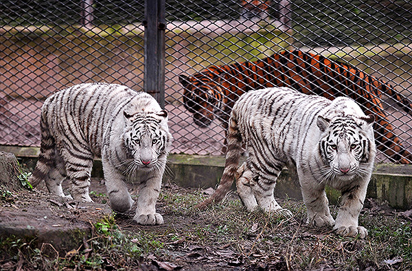
[[[140,196],[133,219],[163,224],[155,204],[172,135],[168,113],[152,96],[118,84],[78,84],[46,99],[40,127],[33,186],[45,180],[50,193],[91,202],[93,158],[101,157],[112,209],[132,207],[125,181],[137,181]],[[63,180],[70,182],[71,196],[63,193]]]

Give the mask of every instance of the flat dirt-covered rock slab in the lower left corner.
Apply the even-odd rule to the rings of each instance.
[[[38,189],[18,189],[7,198],[0,196],[0,255],[8,253],[2,245],[20,240],[38,248],[42,255],[56,257],[58,253],[64,257],[92,236],[95,223],[112,214],[108,204],[75,202]]]

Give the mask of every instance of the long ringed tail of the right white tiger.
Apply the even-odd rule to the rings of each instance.
[[[222,201],[231,189],[231,185],[238,170],[240,155],[242,154],[242,134],[238,129],[238,121],[234,110],[231,112],[229,119],[229,129],[227,132],[227,153],[225,161],[225,170],[220,179],[216,191],[206,200],[196,205],[198,209],[205,209],[208,205]]]

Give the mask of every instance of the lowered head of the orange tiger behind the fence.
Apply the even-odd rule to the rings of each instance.
[[[200,127],[207,127],[214,120],[214,115],[222,112],[222,89],[219,78],[216,81],[204,73],[196,73],[190,77],[179,75],[182,84],[183,104],[193,120]]]

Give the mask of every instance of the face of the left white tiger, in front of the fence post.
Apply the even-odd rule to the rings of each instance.
[[[124,162],[126,171],[159,169],[161,159],[165,159],[161,156],[168,152],[172,138],[167,126],[168,113],[165,110],[134,115],[125,112],[124,119],[124,145],[133,157]]]

